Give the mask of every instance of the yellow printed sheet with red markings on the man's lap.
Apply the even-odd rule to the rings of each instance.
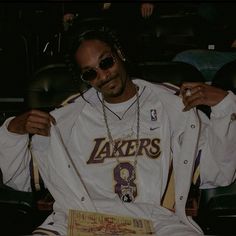
[[[97,212],[69,210],[67,236],[154,235],[152,221]]]

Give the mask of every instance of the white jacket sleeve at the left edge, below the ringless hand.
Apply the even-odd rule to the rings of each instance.
[[[0,168],[3,183],[17,190],[30,191],[29,136],[11,133],[7,126],[12,118],[0,127]]]

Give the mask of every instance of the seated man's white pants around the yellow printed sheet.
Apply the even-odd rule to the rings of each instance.
[[[145,218],[153,221],[155,233],[158,236],[199,236],[193,228],[180,222],[178,216],[171,211],[156,207],[151,204],[123,203],[120,199],[94,201],[97,212]],[[58,209],[59,210],[59,209]],[[39,227],[45,231],[55,231],[59,235],[67,234],[67,214],[62,211],[55,211]],[[44,231],[45,230],[45,231]],[[38,232],[38,233],[37,233]],[[35,231],[34,235],[40,235],[40,231]],[[48,235],[58,235],[49,233]]]

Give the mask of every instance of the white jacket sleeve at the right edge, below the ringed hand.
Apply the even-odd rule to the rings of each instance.
[[[229,185],[236,177],[236,96],[232,92],[212,107],[205,131],[200,161],[201,187]]]

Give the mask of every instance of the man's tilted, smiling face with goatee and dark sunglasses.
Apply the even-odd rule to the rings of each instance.
[[[90,75],[90,85],[100,91],[106,101],[122,96],[127,74],[120,57],[106,43],[87,40],[80,45],[75,58],[84,78]]]

